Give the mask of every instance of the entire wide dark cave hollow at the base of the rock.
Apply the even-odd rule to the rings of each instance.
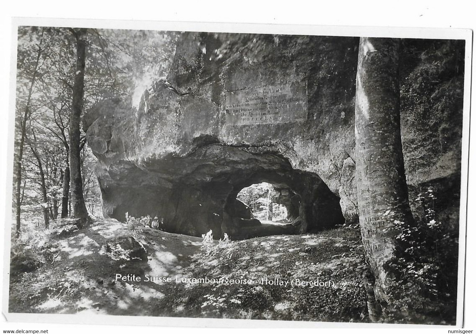
[[[340,198],[316,173],[268,149],[209,144],[187,156],[122,168],[135,182],[112,187],[103,179],[106,215],[158,216],[170,233],[202,236],[212,230],[214,238],[226,233],[242,240],[316,233],[345,223]],[[119,174],[111,169],[108,176]],[[255,198],[247,200],[247,192]]]

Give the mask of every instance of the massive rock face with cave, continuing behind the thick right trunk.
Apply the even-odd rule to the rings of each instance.
[[[357,222],[357,46],[350,37],[183,33],[168,79],[139,109],[111,99],[83,118],[104,215],[158,216],[167,231],[193,236],[275,234],[263,226],[242,233],[247,218],[235,214],[243,187],[269,182],[294,196],[299,224],[284,233]],[[403,40],[400,59],[407,182],[416,192],[439,187],[442,212],[453,218],[462,50],[459,41]],[[284,109],[258,115],[260,98]]]

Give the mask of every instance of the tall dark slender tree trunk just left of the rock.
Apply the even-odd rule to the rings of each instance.
[[[71,188],[71,215],[86,222],[88,211],[84,204],[80,159],[80,117],[84,96],[84,69],[86,65],[86,29],[72,30],[76,38],[76,73],[74,76],[72,110],[69,118],[69,169]]]

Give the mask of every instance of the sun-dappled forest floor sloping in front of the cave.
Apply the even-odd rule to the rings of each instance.
[[[145,248],[147,261],[108,253],[125,237]],[[356,231],[214,240],[204,246],[202,238],[129,230],[102,219],[69,237],[52,236],[50,243],[56,249],[51,261],[12,280],[10,312],[314,321],[366,317]],[[227,283],[237,279],[248,283]],[[291,284],[318,280],[333,283],[325,288]]]

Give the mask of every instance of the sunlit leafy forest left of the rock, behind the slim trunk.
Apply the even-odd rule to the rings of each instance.
[[[19,27],[15,118],[13,203],[21,226],[13,232],[48,227],[71,214],[69,189],[70,113],[76,72],[75,29]],[[173,32],[86,29],[84,98],[86,110],[101,100],[140,95],[154,79],[165,77],[177,38]],[[101,216],[96,160],[80,132],[84,201],[90,215]],[[66,177],[66,174],[68,175]],[[62,202],[66,198],[65,208]],[[64,205],[64,204],[63,204]],[[40,216],[39,212],[44,215]]]

